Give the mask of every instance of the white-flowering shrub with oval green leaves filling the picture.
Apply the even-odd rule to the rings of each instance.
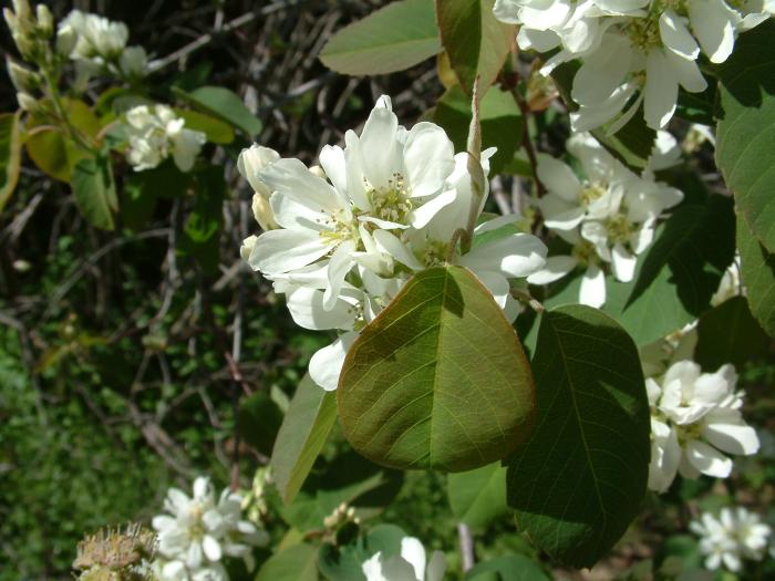
[[[81,579],[544,580],[671,519],[675,538],[700,536],[689,542],[709,569],[744,575],[764,559],[771,528],[742,506],[684,516],[719,506],[717,490],[748,502],[734,485],[766,444],[738,374],[775,334],[772,2],[391,2],[331,37],[321,62],[380,75],[437,56],[444,93],[418,121],[400,95],[379,96],[314,159],[278,151],[249,98],[202,76],[154,86],[164,60],[127,45],[122,22],[79,10],[55,22],[25,0],[3,13],[19,108],[0,116],[0,210],[23,148],[35,175],[72,191],[79,227],[116,237],[111,248],[158,236],[148,224],[167,211],[169,290],[143,323],[131,416],[155,448],[176,446],[151,426],[164,405],[141,402],[135,383],[154,357],[170,383],[162,329],[183,270],[196,291],[182,356],[210,371],[223,359],[210,378],[229,385],[228,421],[204,388],[190,393],[232,428],[214,438],[230,486],[217,495],[214,470],[190,496],[167,491],[153,533],[87,537]],[[214,309],[210,291],[235,278],[237,298]],[[242,341],[275,329],[259,317],[244,330],[246,301],[279,301],[317,332],[309,357],[264,365],[260,387]],[[200,356],[199,318],[231,312],[228,329],[213,323],[217,355]],[[133,334],[73,325],[39,366]],[[291,393],[271,383],[297,369]],[[198,421],[185,418],[195,432]],[[423,540],[428,557],[375,522],[413,517],[396,508],[410,470],[445,475],[459,559],[446,538]],[[518,541],[474,542],[513,522]],[[673,574],[665,544],[650,548],[649,575]]]

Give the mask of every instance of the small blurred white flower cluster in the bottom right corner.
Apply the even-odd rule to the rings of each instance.
[[[700,536],[705,567],[712,571],[725,567],[738,572],[743,559],[761,561],[772,535],[772,529],[758,515],[742,507],[722,508],[719,518],[704,512],[690,528]]]

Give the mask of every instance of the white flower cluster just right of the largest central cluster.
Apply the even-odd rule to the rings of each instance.
[[[548,284],[577,268],[585,270],[579,301],[599,308],[606,302],[606,272],[632,280],[638,255],[652,242],[662,212],[679,204],[683,194],[655,181],[653,170],[675,162],[678,146],[660,132],[649,167],[641,176],[624,167],[589,134],[574,135],[568,152],[579,162],[583,179],[548,155],[538,155],[538,177],[547,194],[538,200],[544,225],[572,245],[569,255],[552,256],[546,268],[528,278]],[[680,151],[678,151],[680,155]]]

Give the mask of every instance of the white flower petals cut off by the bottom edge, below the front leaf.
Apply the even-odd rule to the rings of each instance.
[[[385,558],[378,552],[361,566],[361,570],[366,581],[441,581],[444,578],[444,553],[433,551],[427,569],[425,563],[425,549],[420,540],[404,537],[401,556]]]

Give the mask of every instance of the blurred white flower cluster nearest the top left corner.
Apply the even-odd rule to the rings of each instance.
[[[73,10],[56,29],[56,50],[75,62],[82,77],[102,70],[127,77],[146,73],[142,46],[127,46],[130,31],[123,22]]]

